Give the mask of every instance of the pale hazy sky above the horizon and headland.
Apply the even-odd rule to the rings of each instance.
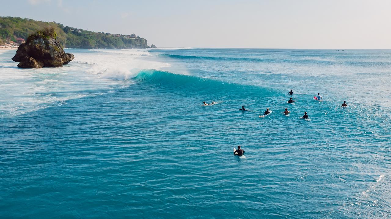
[[[0,5],[0,16],[135,33],[158,47],[391,49],[391,0],[2,0]]]

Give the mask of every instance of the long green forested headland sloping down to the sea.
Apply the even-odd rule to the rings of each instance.
[[[64,48],[147,48],[147,40],[136,35],[109,34],[92,32],[64,26],[56,22],[35,21],[28,18],[0,17],[0,44],[14,41],[20,37],[27,39],[30,34],[40,37],[50,33],[40,30],[48,29],[57,33],[56,38]]]

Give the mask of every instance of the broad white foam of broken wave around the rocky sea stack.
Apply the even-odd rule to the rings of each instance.
[[[93,90],[123,86],[142,69],[161,70],[171,64],[159,62],[148,49],[66,49],[75,60],[61,68],[19,69],[8,62],[15,51],[1,51],[0,117],[20,115],[70,99],[94,95]],[[99,92],[99,93],[100,93]]]

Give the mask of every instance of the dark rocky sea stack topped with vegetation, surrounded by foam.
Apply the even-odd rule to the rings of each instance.
[[[72,61],[75,56],[65,53],[63,46],[56,39],[54,28],[31,34],[25,43],[20,44],[16,55],[12,58],[19,62],[20,68],[62,67]]]

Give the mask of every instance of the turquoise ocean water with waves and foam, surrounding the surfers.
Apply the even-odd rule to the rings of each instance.
[[[1,218],[391,217],[391,50],[67,52],[0,51]]]

